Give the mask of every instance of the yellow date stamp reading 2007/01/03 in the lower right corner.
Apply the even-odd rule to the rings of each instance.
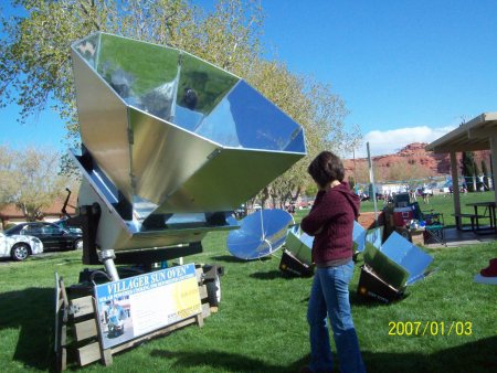
[[[390,321],[389,335],[472,335],[470,321]]]

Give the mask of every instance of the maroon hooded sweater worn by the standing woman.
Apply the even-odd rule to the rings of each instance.
[[[313,262],[317,266],[352,257],[353,221],[359,216],[359,196],[346,182],[317,193],[313,209],[300,223],[305,233],[315,235]]]

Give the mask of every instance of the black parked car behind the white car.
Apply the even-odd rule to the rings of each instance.
[[[8,236],[14,234],[40,238],[45,252],[83,248],[83,234],[72,233],[53,223],[21,223],[6,231]]]

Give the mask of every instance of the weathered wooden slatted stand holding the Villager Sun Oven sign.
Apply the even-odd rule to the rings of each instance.
[[[113,363],[113,354],[131,349],[135,345],[156,337],[165,335],[173,330],[198,324],[203,327],[203,319],[211,312],[216,312],[218,307],[209,303],[208,289],[203,284],[202,268],[197,268],[197,279],[202,300],[202,313],[181,320],[177,323],[155,330],[123,344],[104,350],[98,335],[98,312],[95,298],[92,295],[72,299],[71,287],[66,288],[62,277],[55,274],[55,343],[56,370],[64,371],[71,364],[84,366],[95,361],[104,365]]]

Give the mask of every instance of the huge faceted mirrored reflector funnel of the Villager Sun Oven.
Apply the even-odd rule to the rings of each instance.
[[[141,219],[235,210],[305,156],[298,124],[189,53],[96,33],[72,60],[82,141]]]

